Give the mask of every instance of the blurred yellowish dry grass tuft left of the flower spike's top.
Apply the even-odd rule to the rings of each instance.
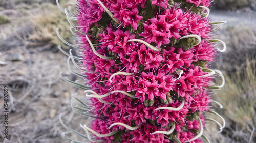
[[[64,2],[68,6],[68,2]],[[32,16],[31,21],[34,25],[34,30],[29,35],[29,40],[39,43],[51,43],[52,45],[64,46],[56,35],[56,29],[60,28],[60,35],[69,42],[73,42],[72,34],[69,31],[69,23],[65,13],[60,11],[56,5],[44,3],[40,7],[40,14]]]

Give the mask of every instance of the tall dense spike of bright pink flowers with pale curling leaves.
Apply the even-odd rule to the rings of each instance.
[[[208,0],[78,0],[92,142],[202,142],[218,70]],[[196,9],[196,10],[195,10]],[[208,12],[208,11],[207,11]],[[221,75],[222,76],[222,75]]]

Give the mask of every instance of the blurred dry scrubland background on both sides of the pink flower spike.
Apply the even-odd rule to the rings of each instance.
[[[70,5],[75,11],[75,5],[68,3],[75,0],[59,1],[63,8]],[[209,17],[212,21],[227,21],[213,37],[223,40],[227,50],[211,63],[211,68],[221,70],[226,78],[224,88],[212,96],[224,106],[215,110],[226,120],[226,127],[217,133],[217,125],[209,122],[204,134],[211,142],[256,142],[256,1],[214,3]],[[64,50],[69,49],[58,39],[57,27],[61,37],[75,43],[65,13],[58,9],[55,0],[0,1],[2,113],[4,85],[9,89],[9,139],[4,140],[1,116],[0,142],[65,142],[60,134],[67,130],[59,122],[60,113],[67,115],[63,122],[77,130],[81,130],[80,123],[90,120],[76,116],[66,104],[72,94],[82,97],[83,91],[60,79],[59,72],[72,81],[82,80],[68,70],[67,57],[57,48],[61,45]],[[79,53],[73,50],[73,54]],[[221,122],[218,117],[207,116]]]

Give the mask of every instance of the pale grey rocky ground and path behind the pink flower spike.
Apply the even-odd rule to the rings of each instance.
[[[36,8],[25,9],[24,13],[15,8],[0,10],[1,15],[18,21],[0,25],[0,142],[64,142],[60,134],[67,130],[59,122],[60,113],[69,115],[63,121],[74,129],[79,128],[77,123],[86,124],[88,119],[76,118],[66,104],[72,94],[82,97],[83,91],[60,79],[59,72],[72,81],[80,78],[68,70],[67,57],[56,46],[30,41],[33,26],[26,20],[28,11],[35,12]],[[252,26],[256,22],[255,14],[251,9],[215,10],[210,17],[227,20],[226,25],[244,23]],[[8,140],[4,140],[2,134],[4,86],[8,87],[9,99]]]

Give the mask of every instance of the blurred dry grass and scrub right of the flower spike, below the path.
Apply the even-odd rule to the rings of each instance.
[[[223,30],[222,30],[223,31]],[[226,84],[216,91],[216,100],[224,108],[217,109],[226,120],[222,133],[211,136],[216,128],[207,131],[213,142],[255,142],[256,134],[256,31],[252,27],[226,27],[219,36],[225,36],[229,50],[214,63],[226,75]],[[218,130],[217,130],[218,131]]]

